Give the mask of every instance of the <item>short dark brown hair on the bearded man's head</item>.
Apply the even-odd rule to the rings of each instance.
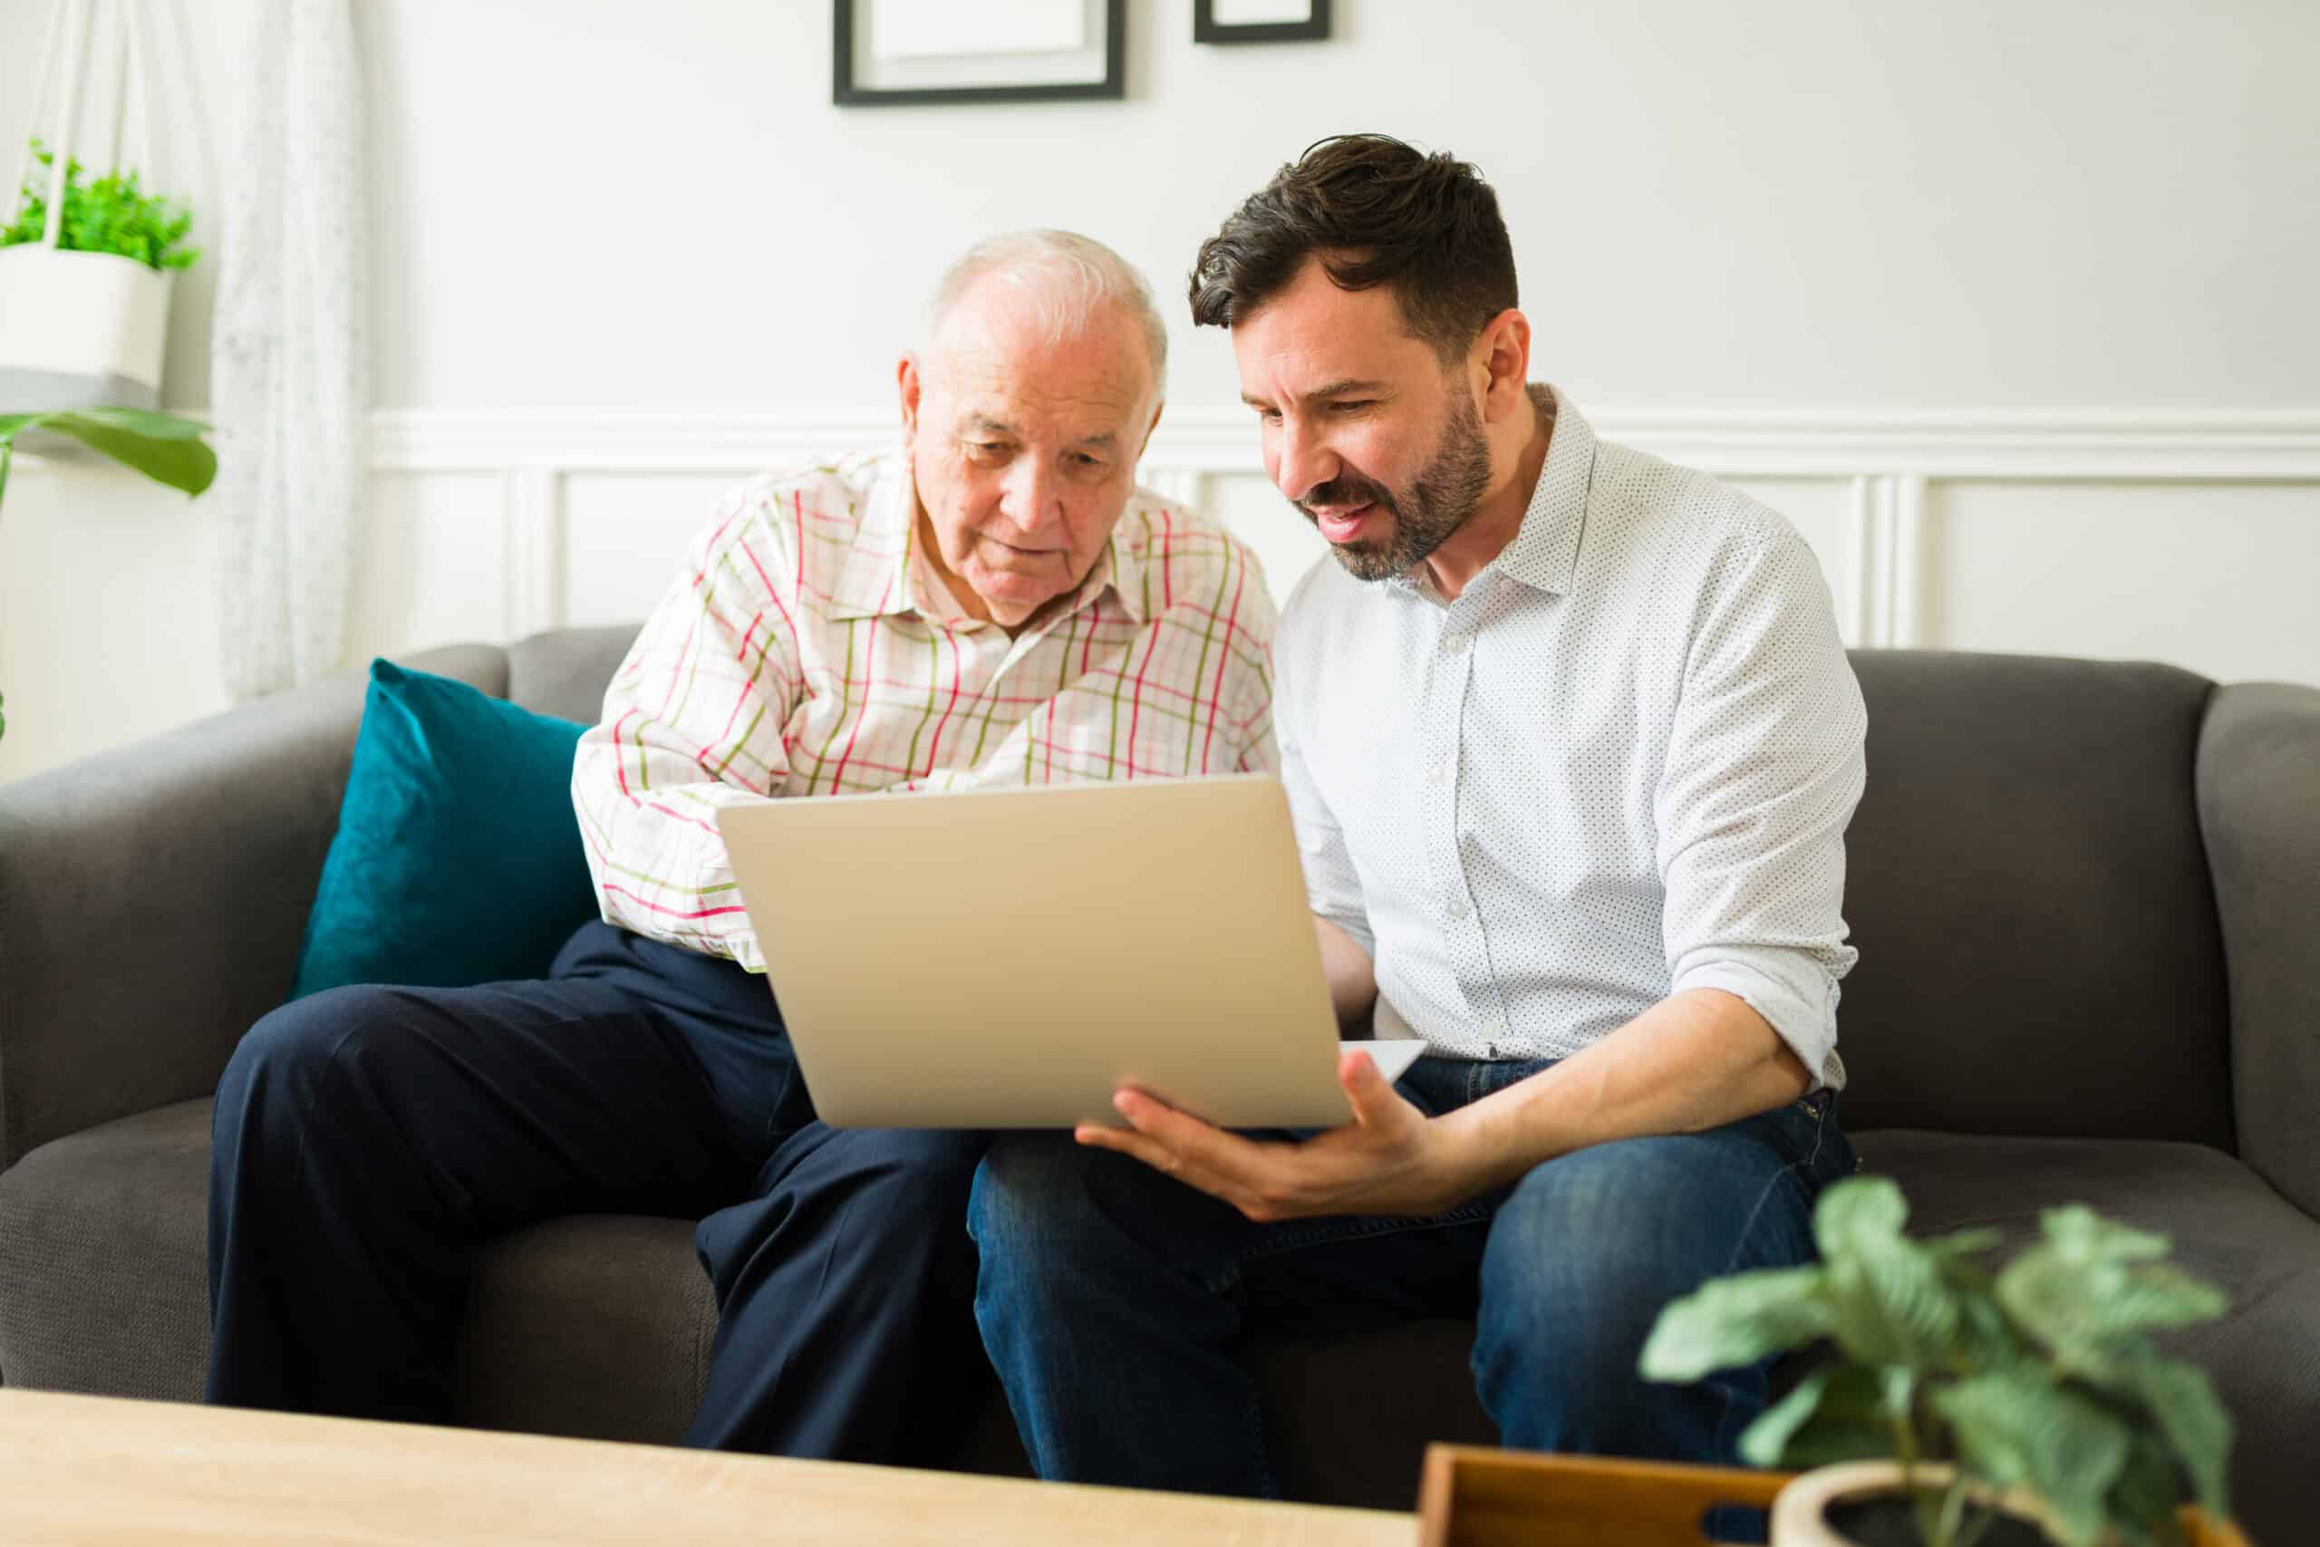
[[[1343,290],[1392,285],[1401,318],[1445,359],[1515,304],[1499,195],[1455,155],[1387,135],[1306,146],[1192,260],[1192,322],[1232,327],[1318,253]]]

